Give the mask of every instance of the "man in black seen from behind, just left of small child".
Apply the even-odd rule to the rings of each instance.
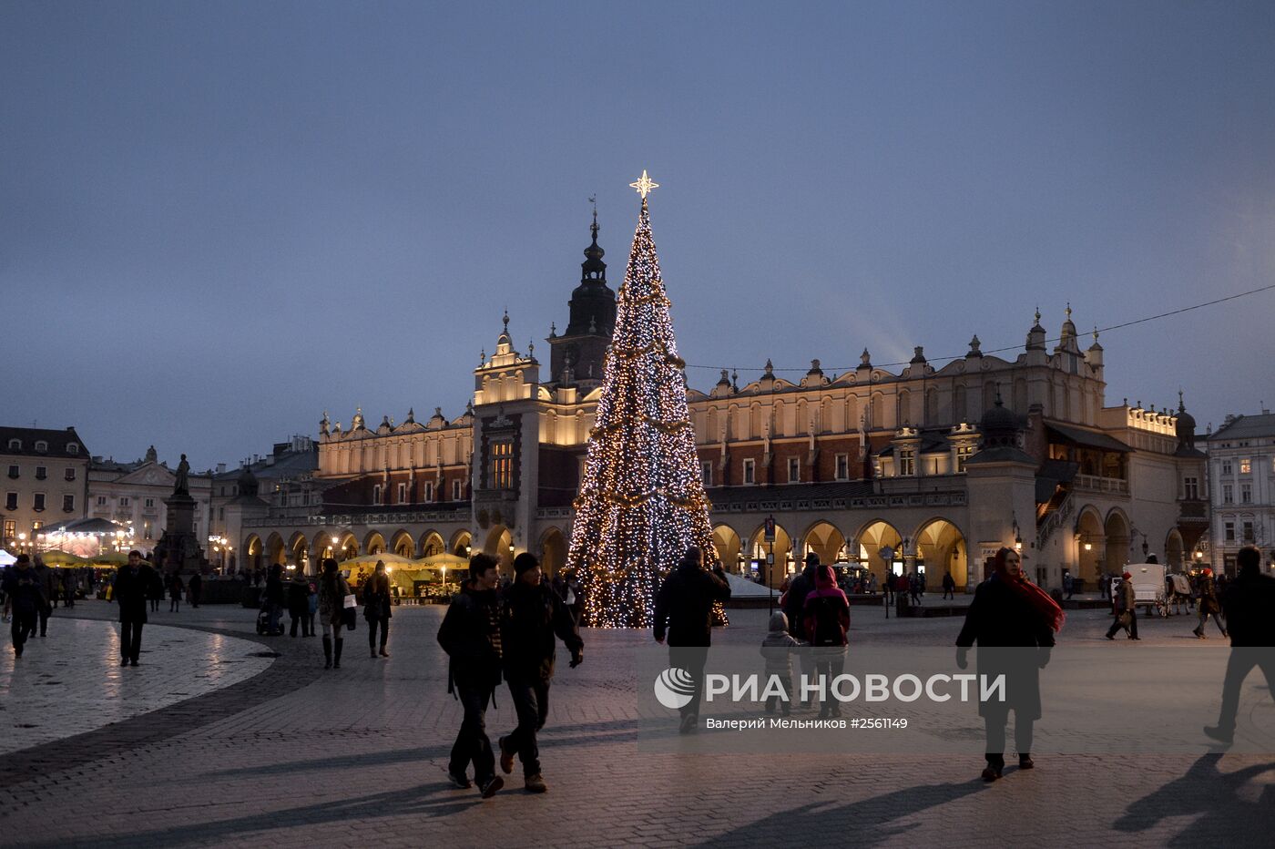
[[[792,593],[792,589],[788,590]],[[681,732],[695,730],[704,693],[704,664],[713,642],[713,603],[731,599],[725,572],[704,570],[704,555],[696,546],[686,549],[655,595],[655,642],[668,637],[668,665],[685,669],[695,681],[695,693],[678,711]]]

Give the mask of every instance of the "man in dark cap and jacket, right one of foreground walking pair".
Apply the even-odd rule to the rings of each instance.
[[[500,769],[514,771],[514,755],[523,761],[525,788],[530,793],[548,789],[541,776],[536,732],[544,728],[553,678],[555,635],[571,653],[571,668],[584,660],[584,640],[566,603],[541,581],[536,556],[523,552],[514,558],[514,583],[504,594],[500,617],[500,644],[504,650],[505,681],[518,713],[518,728],[501,737]]]

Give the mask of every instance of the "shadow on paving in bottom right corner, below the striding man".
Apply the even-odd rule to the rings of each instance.
[[[1131,803],[1113,827],[1136,834],[1168,817],[1192,816],[1191,825],[1167,845],[1270,846],[1275,831],[1275,762],[1223,773],[1218,769],[1221,757],[1219,752],[1200,757],[1186,775]],[[1264,773],[1272,773],[1270,783],[1253,781]]]

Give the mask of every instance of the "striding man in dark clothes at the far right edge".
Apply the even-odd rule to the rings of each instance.
[[[1221,711],[1218,724],[1204,729],[1224,743],[1234,738],[1239,688],[1253,667],[1261,668],[1275,697],[1275,577],[1262,575],[1262,553],[1253,546],[1239,549],[1235,565],[1239,576],[1223,595],[1230,657],[1221,685]]]

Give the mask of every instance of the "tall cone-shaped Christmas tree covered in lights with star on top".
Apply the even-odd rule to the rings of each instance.
[[[616,302],[567,553],[585,589],[584,621],[601,627],[649,627],[663,576],[687,546],[709,557],[713,544],[686,405],[686,363],[677,356],[650,235],[646,195],[657,184],[643,171],[630,185],[641,195],[641,213]]]

